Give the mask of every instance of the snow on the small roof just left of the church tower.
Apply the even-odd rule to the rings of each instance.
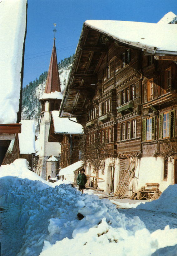
[[[18,134],[20,154],[35,153],[35,121],[21,120],[22,132]]]

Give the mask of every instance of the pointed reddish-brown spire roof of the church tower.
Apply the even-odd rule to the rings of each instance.
[[[54,39],[52,56],[51,56],[49,71],[47,75],[45,93],[52,93],[55,91],[61,92],[60,78],[58,74],[57,52],[55,48],[55,39]]]

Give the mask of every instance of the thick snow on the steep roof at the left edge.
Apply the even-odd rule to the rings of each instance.
[[[0,123],[16,123],[19,110],[26,0],[0,2]]]

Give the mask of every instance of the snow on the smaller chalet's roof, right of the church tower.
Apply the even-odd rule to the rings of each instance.
[[[83,134],[83,127],[76,123],[76,118],[59,117],[57,110],[52,111],[52,118],[55,133]]]

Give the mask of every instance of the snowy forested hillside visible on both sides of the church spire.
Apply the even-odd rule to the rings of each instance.
[[[58,63],[61,93],[65,90],[73,59],[74,55],[61,60],[61,62]],[[35,120],[36,133],[39,131],[41,112],[39,98],[44,93],[47,73],[47,71],[43,72],[38,79],[36,78],[33,82],[31,81],[22,90],[22,120]]]

